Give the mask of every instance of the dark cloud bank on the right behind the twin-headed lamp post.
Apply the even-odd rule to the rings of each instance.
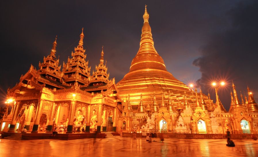
[[[228,87],[219,93],[226,109],[230,107],[231,80],[234,81],[238,96],[246,92],[247,85],[258,99],[258,1],[243,1],[229,10],[231,25],[210,36],[202,46],[201,57],[193,65],[199,67],[202,76],[196,84],[204,90],[211,90],[211,82],[225,80]],[[214,97],[214,94],[213,94]]]

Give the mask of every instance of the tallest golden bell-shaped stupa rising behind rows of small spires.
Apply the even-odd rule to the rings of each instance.
[[[139,105],[140,95],[142,94],[143,104],[147,105],[153,100],[155,92],[156,100],[160,105],[162,93],[167,104],[169,97],[174,102],[178,102],[179,99],[184,102],[184,93],[186,92],[189,103],[194,105],[194,94],[183,82],[177,80],[167,71],[162,57],[154,47],[146,7],[143,19],[140,48],[131,62],[129,73],[117,83],[120,97],[125,100],[130,94],[131,105]],[[207,96],[203,95],[203,99],[208,102]],[[173,105],[175,106],[174,102]],[[136,109],[136,106],[133,108]]]

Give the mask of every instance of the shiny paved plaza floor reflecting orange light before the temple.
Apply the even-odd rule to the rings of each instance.
[[[231,157],[258,156],[258,141],[233,140],[236,147],[227,147],[223,139],[165,139],[160,143],[153,138],[147,143],[144,138],[114,137],[106,139],[61,140],[9,140],[0,139],[0,156],[91,156],[91,157]]]

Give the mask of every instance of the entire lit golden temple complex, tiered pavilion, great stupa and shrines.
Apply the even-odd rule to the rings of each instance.
[[[1,131],[31,133],[85,132],[159,132],[219,134],[258,133],[258,105],[247,87],[247,97],[232,83],[231,106],[226,111],[216,102],[177,80],[166,69],[154,47],[149,14],[145,7],[140,47],[131,62],[129,72],[115,83],[109,80],[104,63],[91,74],[83,48],[83,30],[71,58],[59,65],[56,58],[57,39],[50,54],[36,69],[31,65],[15,87],[8,89],[7,99],[12,106],[6,114]],[[230,99],[230,94],[229,94]]]

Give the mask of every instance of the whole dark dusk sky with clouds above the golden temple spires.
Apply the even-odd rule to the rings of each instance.
[[[60,64],[78,45],[84,27],[84,48],[95,70],[102,45],[110,79],[129,72],[139,49],[144,6],[150,14],[154,46],[167,71],[186,85],[210,91],[213,81],[225,81],[219,97],[228,110],[232,80],[258,101],[258,1],[2,1],[1,104],[30,64],[50,54],[57,38]]]

